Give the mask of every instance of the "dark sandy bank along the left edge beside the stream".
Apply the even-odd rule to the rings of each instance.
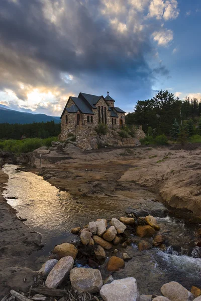
[[[23,284],[23,278],[33,276],[27,268],[13,268],[16,266],[29,267],[26,258],[41,248],[41,236],[33,232],[16,217],[15,210],[7,204],[2,196],[8,176],[0,170],[0,296],[5,295],[15,282]]]

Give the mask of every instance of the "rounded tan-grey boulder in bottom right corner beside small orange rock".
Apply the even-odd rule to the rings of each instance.
[[[175,281],[163,284],[161,287],[162,294],[169,298],[171,301],[192,301],[194,300],[193,294],[185,287]]]

